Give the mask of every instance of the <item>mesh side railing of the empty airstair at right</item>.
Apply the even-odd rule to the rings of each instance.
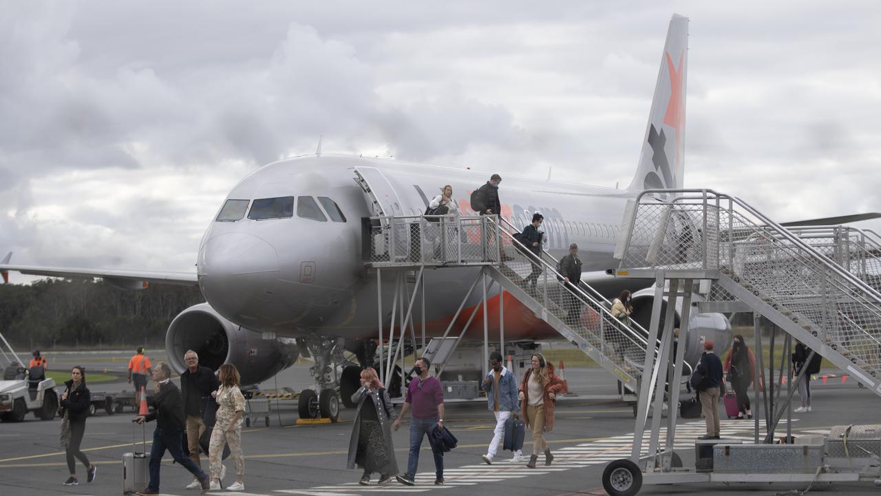
[[[649,195],[677,198],[661,202]],[[636,199],[619,273],[718,271],[873,376],[881,376],[881,294],[741,199],[652,190]]]

